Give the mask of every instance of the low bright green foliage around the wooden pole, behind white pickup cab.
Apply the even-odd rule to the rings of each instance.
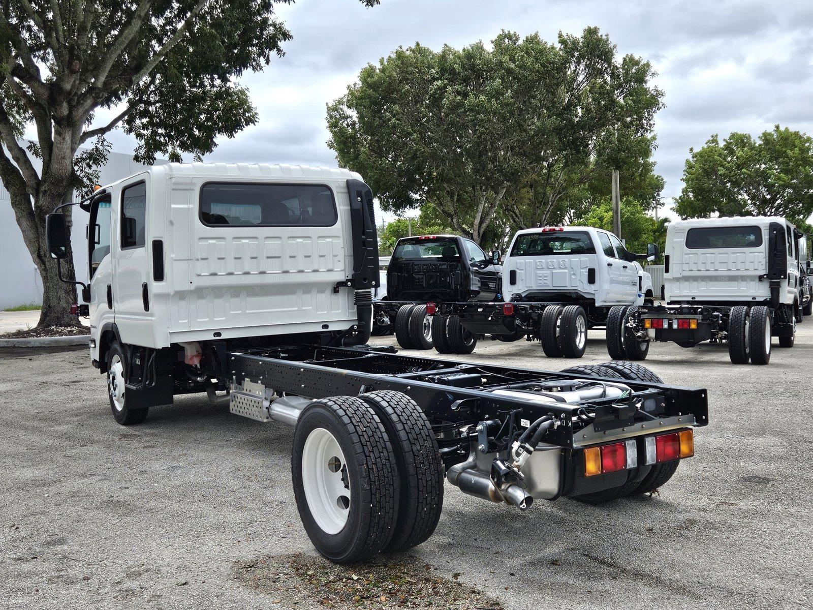
[[[621,201],[621,238],[630,252],[645,254],[646,245],[654,243],[658,246],[659,255],[663,255],[668,222],[665,218],[655,220],[646,213],[641,203],[632,198]],[[574,220],[573,224],[611,231],[612,202],[605,201],[591,207],[584,216]]]

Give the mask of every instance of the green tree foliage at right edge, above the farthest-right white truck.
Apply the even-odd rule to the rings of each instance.
[[[715,134],[689,152],[675,205],[681,218],[813,214],[813,139],[806,133],[776,125],[758,140],[735,132],[722,144]]]

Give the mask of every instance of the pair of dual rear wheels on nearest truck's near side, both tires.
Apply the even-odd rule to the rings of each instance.
[[[293,434],[293,493],[317,551],[337,563],[424,542],[443,506],[443,464],[424,412],[380,391],[312,403]]]

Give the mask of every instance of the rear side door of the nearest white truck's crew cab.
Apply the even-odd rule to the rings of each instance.
[[[152,346],[150,285],[148,275],[147,181],[136,176],[114,191],[119,226],[114,237],[113,302],[115,324],[122,341]],[[117,195],[117,196],[116,196]]]

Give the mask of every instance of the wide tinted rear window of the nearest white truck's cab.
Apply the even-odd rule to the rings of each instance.
[[[327,185],[207,182],[200,220],[207,226],[332,227],[338,216]]]

